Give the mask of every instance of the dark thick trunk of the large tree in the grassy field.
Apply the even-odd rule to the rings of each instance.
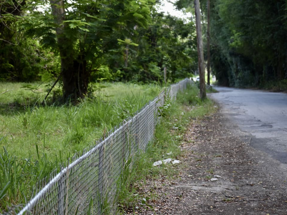
[[[75,101],[83,98],[88,92],[89,73],[86,70],[84,54],[75,56],[73,41],[65,34],[65,7],[62,0],[50,0],[52,14],[57,24],[57,45],[61,57],[61,73],[63,80],[63,97]]]

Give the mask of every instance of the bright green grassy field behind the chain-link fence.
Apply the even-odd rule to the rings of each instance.
[[[40,105],[45,93],[23,84],[0,83],[0,213],[25,202],[36,182],[161,91],[156,85],[102,84],[79,105]]]

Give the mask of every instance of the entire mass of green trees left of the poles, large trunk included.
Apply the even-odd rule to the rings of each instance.
[[[0,4],[2,81],[59,77],[64,98],[76,99],[91,82],[162,83],[164,70],[174,82],[196,69],[193,24],[158,13],[154,0]]]

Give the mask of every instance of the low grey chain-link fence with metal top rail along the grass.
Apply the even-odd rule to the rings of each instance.
[[[114,214],[117,182],[125,162],[146,150],[165,100],[176,99],[178,91],[190,83],[184,79],[162,91],[138,114],[98,140],[93,148],[82,156],[75,155],[59,173],[51,173],[47,183],[39,183],[24,207],[18,206],[7,214],[103,214],[108,208],[108,213]]]

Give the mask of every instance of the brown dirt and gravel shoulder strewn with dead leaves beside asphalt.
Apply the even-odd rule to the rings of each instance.
[[[130,214],[287,214],[286,166],[248,145],[220,113],[185,131],[179,177],[146,179],[147,207]],[[247,135],[247,136],[246,136]]]

